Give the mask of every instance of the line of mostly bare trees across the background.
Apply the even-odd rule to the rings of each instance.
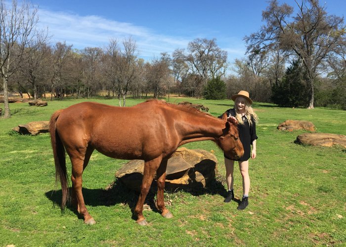
[[[230,98],[247,90],[255,101],[279,106],[338,105],[346,109],[346,28],[344,18],[328,15],[318,0],[294,7],[271,0],[262,11],[264,25],[246,36],[247,52],[233,74],[227,52],[216,39],[197,38],[172,54],[151,61],[139,57],[136,41],[110,40],[106,47],[74,49],[51,44],[36,29],[38,9],[0,0],[0,75],[4,117],[10,117],[10,92],[34,99],[92,97],[100,91],[126,106],[127,97],[172,93],[207,99]],[[6,103],[7,101],[7,103]]]

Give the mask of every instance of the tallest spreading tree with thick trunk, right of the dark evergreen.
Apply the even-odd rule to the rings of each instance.
[[[344,18],[327,15],[325,6],[318,0],[295,0],[296,16],[291,17],[293,7],[271,0],[262,12],[266,25],[260,31],[245,37],[248,51],[283,50],[301,59],[307,73],[309,105],[313,108],[314,80],[321,73],[322,64],[328,54],[336,52],[338,43],[346,33]]]

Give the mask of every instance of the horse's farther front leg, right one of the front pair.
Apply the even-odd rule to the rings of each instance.
[[[167,161],[163,160],[161,165],[156,171],[157,177],[157,202],[156,206],[161,211],[161,215],[165,218],[172,218],[173,214],[166,208],[165,199],[164,199],[164,190],[165,190],[165,182],[166,182],[166,168]]]

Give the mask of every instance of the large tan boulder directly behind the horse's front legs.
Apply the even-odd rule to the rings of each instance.
[[[144,161],[133,160],[119,169],[115,176],[128,188],[139,191],[143,170]],[[200,149],[179,148],[168,160],[165,189],[204,188],[215,178],[216,172],[215,155]]]

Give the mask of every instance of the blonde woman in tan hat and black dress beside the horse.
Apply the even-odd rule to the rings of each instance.
[[[244,155],[237,160],[240,168],[240,172],[243,178],[243,198],[238,210],[245,209],[248,205],[249,190],[250,190],[250,177],[249,177],[249,159],[256,158],[256,122],[258,117],[254,112],[252,100],[249,97],[247,91],[240,91],[238,94],[233,95],[232,100],[234,101],[234,108],[226,111],[229,118],[233,118],[238,124],[239,138],[244,147]],[[253,146],[252,152],[251,145]],[[251,155],[250,155],[251,153]],[[224,155],[225,166],[226,166],[226,183],[228,187],[227,196],[224,200],[225,203],[229,203],[234,199],[233,193],[233,170],[234,160]]]

